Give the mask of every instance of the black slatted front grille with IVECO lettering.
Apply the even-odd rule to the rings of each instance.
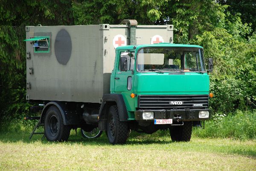
[[[175,101],[178,103],[182,101],[182,104],[174,104]],[[208,108],[208,95],[140,95],[138,107],[144,109],[205,109]]]

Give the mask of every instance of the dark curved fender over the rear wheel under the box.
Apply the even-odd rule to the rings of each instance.
[[[49,108],[50,106],[52,106],[52,105],[58,107],[58,110],[60,110],[61,116],[62,116],[62,118],[63,118],[63,123],[64,123],[64,125],[69,125],[69,124],[67,124],[67,115],[64,114],[65,106],[64,106],[64,104],[62,104],[62,103],[59,102],[59,101],[51,101],[51,102],[47,103],[47,104],[44,106],[44,108],[43,108],[43,110],[42,110],[42,113],[41,113],[41,117],[40,117],[40,123],[41,123],[41,124],[44,123],[44,116],[45,116],[45,114],[46,114],[48,108]]]

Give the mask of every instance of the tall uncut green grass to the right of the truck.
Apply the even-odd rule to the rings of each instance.
[[[256,110],[215,113],[205,122],[205,129],[194,128],[195,136],[204,138],[256,139]]]

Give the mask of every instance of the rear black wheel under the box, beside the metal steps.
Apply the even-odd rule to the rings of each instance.
[[[46,112],[44,133],[48,141],[67,141],[70,136],[70,127],[63,124],[61,112],[56,106],[51,106]]]

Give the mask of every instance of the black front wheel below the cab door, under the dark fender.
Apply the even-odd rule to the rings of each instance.
[[[119,120],[117,106],[111,106],[108,110],[107,119],[107,136],[109,143],[113,145],[125,144],[129,133],[128,122],[121,122]]]

